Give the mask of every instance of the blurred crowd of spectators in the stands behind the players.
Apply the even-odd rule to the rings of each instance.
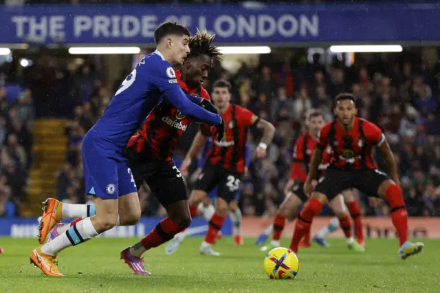
[[[375,122],[390,142],[401,175],[401,186],[411,216],[440,216],[440,64],[426,63],[420,54],[362,54],[353,65],[335,58],[323,65],[318,54],[307,58],[298,50],[289,59],[279,54],[261,55],[255,66],[229,72],[218,63],[206,88],[219,78],[233,85],[233,102],[276,126],[265,160],[252,157],[241,184],[244,215],[274,215],[283,200],[294,142],[305,131],[305,111],[319,108],[333,119],[333,97],[341,91],[355,94],[359,116]],[[23,71],[12,63],[0,65],[0,215],[17,214],[17,203],[26,197],[32,164],[32,123],[35,118],[68,118],[66,164],[56,174],[58,198],[85,203],[83,135],[109,104],[127,72],[111,82],[102,78],[94,59],[84,63],[56,62],[45,54]],[[3,87],[17,82],[19,89]],[[188,129],[175,151],[177,165],[189,149],[197,125]],[[252,153],[259,135],[252,131]],[[381,169],[386,170],[377,155]],[[197,162],[192,172],[197,169]],[[188,186],[193,182],[188,177]],[[388,215],[388,206],[357,195],[364,215]],[[144,215],[163,215],[148,191],[140,193]],[[324,213],[329,213],[325,210]]]

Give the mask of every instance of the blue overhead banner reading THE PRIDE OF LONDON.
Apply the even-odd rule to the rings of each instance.
[[[1,6],[0,43],[152,44],[163,21],[219,44],[440,41],[440,4]]]

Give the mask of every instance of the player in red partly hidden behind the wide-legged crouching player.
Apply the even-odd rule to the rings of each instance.
[[[265,239],[267,239],[267,235],[270,234],[268,232],[272,232],[270,230],[273,230],[270,244],[263,246],[261,251],[272,250],[272,248],[280,246],[281,234],[283,233],[286,219],[293,220],[298,217],[298,208],[308,200],[307,195],[305,195],[303,192],[303,185],[306,180],[307,173],[309,173],[310,158],[311,154],[314,153],[316,149],[320,129],[325,124],[324,116],[318,110],[309,111],[309,113],[307,113],[305,123],[308,132],[304,133],[298,138],[298,140],[296,140],[291,174],[289,181],[285,186],[286,197],[278,208],[278,211],[274,217],[274,223],[270,226],[270,228],[266,228],[263,234],[260,235],[259,239],[257,239],[257,243],[262,240],[265,241]],[[329,148],[324,151],[322,161],[318,166],[321,174],[329,165],[330,153],[331,149]],[[318,177],[316,177],[316,179],[318,179]],[[314,181],[316,184],[316,180]],[[344,193],[348,192],[346,191]],[[359,208],[357,204],[355,204],[355,206]],[[355,250],[358,252],[364,251],[364,248],[356,243],[351,236],[351,222],[347,213],[347,208],[344,205],[343,195],[339,195],[333,199],[333,201],[331,201],[331,208],[336,214],[336,217],[338,217],[340,223],[342,223],[342,228],[347,237],[347,247],[350,250]],[[360,233],[362,235],[362,230],[360,230]],[[318,242],[319,240],[320,239],[316,239]],[[305,240],[303,240],[301,245],[303,247],[309,247],[311,245],[309,233],[305,235]]]

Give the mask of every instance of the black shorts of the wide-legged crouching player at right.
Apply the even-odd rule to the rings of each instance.
[[[386,180],[390,180],[390,177],[377,169],[345,171],[327,168],[314,191],[324,193],[329,201],[349,188],[357,188],[367,196],[377,197],[377,189]]]

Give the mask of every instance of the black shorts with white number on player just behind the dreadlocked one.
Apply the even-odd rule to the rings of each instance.
[[[217,197],[225,199],[229,203],[236,198],[236,191],[239,189],[242,175],[239,172],[225,170],[219,165],[207,163],[203,166],[195,189],[210,193],[218,185]]]

